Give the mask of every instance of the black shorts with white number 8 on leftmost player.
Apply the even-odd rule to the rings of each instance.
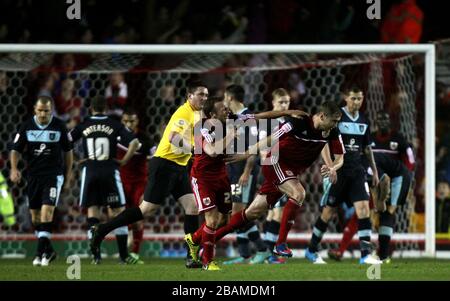
[[[30,209],[41,209],[42,205],[58,205],[63,184],[63,175],[28,177],[28,207]]]

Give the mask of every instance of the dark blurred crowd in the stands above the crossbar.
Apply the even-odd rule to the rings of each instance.
[[[0,43],[426,42],[448,36],[443,4],[430,2],[382,0],[370,20],[366,1],[81,0],[69,20],[66,1],[4,0]]]

